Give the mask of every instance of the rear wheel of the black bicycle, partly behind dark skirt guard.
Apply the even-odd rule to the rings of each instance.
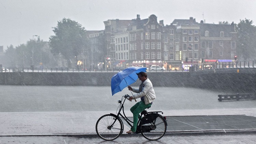
[[[147,129],[147,130],[145,130]],[[141,134],[147,140],[159,140],[165,135],[166,122],[162,116],[158,116],[153,123],[141,125]]]

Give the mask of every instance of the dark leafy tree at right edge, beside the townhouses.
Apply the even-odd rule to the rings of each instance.
[[[240,60],[255,60],[256,55],[256,27],[253,21],[246,19],[240,20],[237,25],[238,44],[237,53]]]

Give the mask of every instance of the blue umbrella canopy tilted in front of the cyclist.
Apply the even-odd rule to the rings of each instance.
[[[136,73],[146,72],[144,67],[128,67],[123,71],[118,72],[111,78],[112,96],[122,91],[125,87],[137,81],[138,75]]]

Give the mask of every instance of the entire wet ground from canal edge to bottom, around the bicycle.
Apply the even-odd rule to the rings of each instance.
[[[110,143],[101,140],[95,131],[98,118],[109,113],[115,112],[0,113],[0,144]],[[126,111],[126,115],[132,114]],[[168,120],[167,133],[153,143],[199,143],[198,139],[203,143],[255,143],[255,115],[256,109],[163,111]],[[129,129],[125,125],[124,131]],[[133,143],[128,139],[148,143],[141,134],[126,133],[114,143]]]

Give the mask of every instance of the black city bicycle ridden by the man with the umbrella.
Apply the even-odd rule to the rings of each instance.
[[[124,131],[124,119],[128,125],[132,127],[133,122],[129,120],[124,112],[124,103],[128,99],[129,95],[122,96],[121,100],[118,100],[120,105],[118,106],[118,113],[106,114],[101,116],[96,123],[96,132],[99,137],[106,141],[112,141],[117,139]],[[117,109],[117,110],[118,110]],[[121,111],[123,109],[123,115]],[[147,112],[146,110],[141,112],[138,120],[136,133],[141,133],[147,140],[159,140],[165,135],[167,129],[166,117],[158,114],[161,111]],[[143,117],[142,117],[143,115]],[[122,118],[122,119],[121,119]]]

